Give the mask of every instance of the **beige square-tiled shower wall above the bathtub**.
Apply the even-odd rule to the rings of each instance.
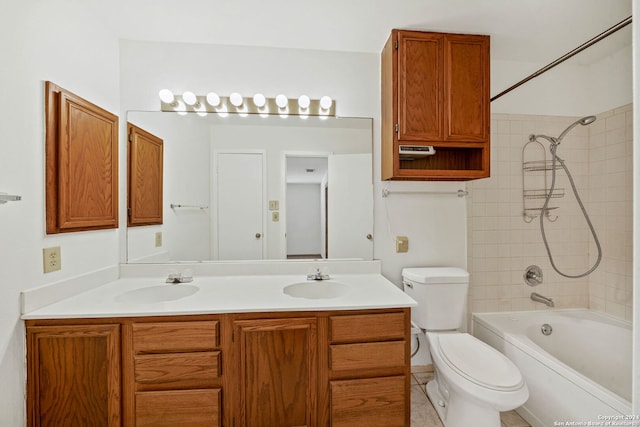
[[[523,215],[523,187],[551,185],[551,171],[523,176],[523,160],[550,160],[549,144],[529,141],[531,134],[557,137],[577,117],[494,114],[491,123],[491,178],[468,185],[469,311],[546,309],[531,292],[553,298],[557,308],[590,307],[619,318],[632,311],[632,126],[631,105],[597,115],[589,126],[576,126],[558,146],[578,194],[600,240],[603,257],[593,274],[566,278],[549,261],[540,218]],[[546,179],[546,183],[545,183]],[[597,250],[570,181],[556,173],[556,191],[544,217],[544,230],[554,264],[565,274],[579,275],[596,262]],[[544,199],[529,199],[541,207]],[[535,212],[535,211],[534,211]],[[537,215],[537,212],[535,212]],[[542,268],[543,283],[525,284],[527,266]]]

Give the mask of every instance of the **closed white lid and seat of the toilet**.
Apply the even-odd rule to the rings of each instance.
[[[467,333],[430,333],[432,351],[466,380],[498,392],[523,387],[520,370],[502,353]]]

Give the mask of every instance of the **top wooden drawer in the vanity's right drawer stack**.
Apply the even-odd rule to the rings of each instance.
[[[404,313],[331,316],[331,342],[385,341],[404,339]]]

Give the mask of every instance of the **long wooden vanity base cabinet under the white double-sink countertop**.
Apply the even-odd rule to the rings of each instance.
[[[410,424],[409,308],[28,320],[27,366],[29,427]]]

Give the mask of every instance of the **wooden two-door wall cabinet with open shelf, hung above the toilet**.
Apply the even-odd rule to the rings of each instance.
[[[489,37],[393,30],[382,51],[382,179],[489,176]],[[434,155],[401,155],[400,146]]]

